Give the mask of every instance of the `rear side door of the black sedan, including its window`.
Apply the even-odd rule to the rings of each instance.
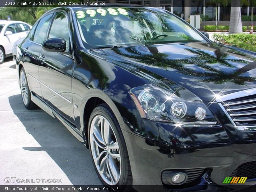
[[[21,50],[23,52],[22,61],[28,78],[29,88],[32,93],[42,98],[41,85],[39,79],[39,54],[42,50],[42,42],[44,41],[48,28],[50,26],[50,20],[53,14],[44,16],[38,21],[32,28],[28,38],[21,44]]]

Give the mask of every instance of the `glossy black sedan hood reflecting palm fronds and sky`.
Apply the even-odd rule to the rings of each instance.
[[[255,53],[213,42],[97,49],[92,53],[146,69],[203,101],[256,87]]]

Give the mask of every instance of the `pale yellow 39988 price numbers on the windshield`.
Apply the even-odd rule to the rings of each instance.
[[[122,8],[118,8],[117,11],[113,8],[108,8],[107,11],[105,9],[97,9],[96,11],[94,9],[87,9],[86,13],[84,11],[77,11],[76,12],[76,17],[78,19],[82,19],[84,17],[86,17],[86,14],[90,15],[90,17],[95,17],[96,13],[99,13],[101,16],[106,16],[107,12],[110,15],[129,15],[128,12],[126,12],[125,9]]]

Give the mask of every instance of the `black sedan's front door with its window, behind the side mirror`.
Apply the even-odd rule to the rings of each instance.
[[[74,123],[72,106],[72,69],[74,64],[68,18],[64,12],[56,12],[49,30],[48,38],[60,37],[65,39],[65,52],[40,53],[40,81],[44,100],[69,122]]]

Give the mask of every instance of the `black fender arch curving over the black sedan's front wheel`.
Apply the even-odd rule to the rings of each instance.
[[[111,98],[108,97],[108,95],[101,90],[90,89],[88,90],[88,93],[86,94],[86,97],[83,100],[82,110],[80,115],[82,133],[87,141],[88,141],[87,131],[88,131],[89,118],[91,116],[93,109],[102,103],[106,103],[110,107],[110,109],[113,111],[121,129],[124,129],[125,127],[123,117],[121,116],[113,100],[111,100]],[[86,147],[88,147],[88,142],[86,143]]]

